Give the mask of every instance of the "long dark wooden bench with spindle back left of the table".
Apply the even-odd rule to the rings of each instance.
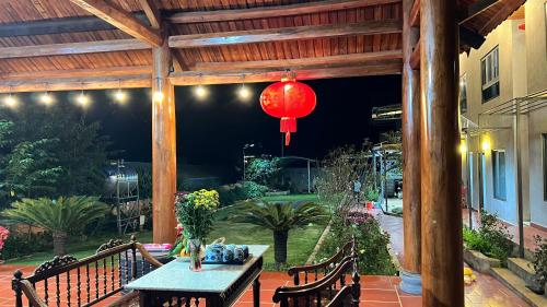
[[[137,251],[143,260],[140,265],[137,265]],[[137,279],[139,272],[142,275],[161,265],[136,241],[135,236],[131,236],[129,243],[109,240],[98,247],[95,255],[81,260],[72,256],[55,257],[25,278],[21,271],[15,271],[12,280],[15,307],[23,307],[23,296],[28,300],[28,306],[33,307],[47,307],[49,304],[93,306],[121,293],[124,285]],[[55,297],[50,297],[51,293],[55,293]],[[138,306],[138,293],[131,292],[106,306]]]

